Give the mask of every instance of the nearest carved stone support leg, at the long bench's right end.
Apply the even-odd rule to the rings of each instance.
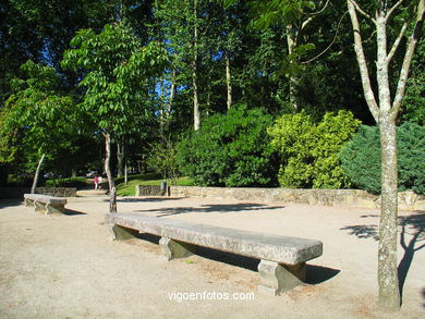
[[[262,259],[258,265],[258,272],[262,278],[258,289],[275,296],[292,290],[305,281],[305,262],[282,265]]]

